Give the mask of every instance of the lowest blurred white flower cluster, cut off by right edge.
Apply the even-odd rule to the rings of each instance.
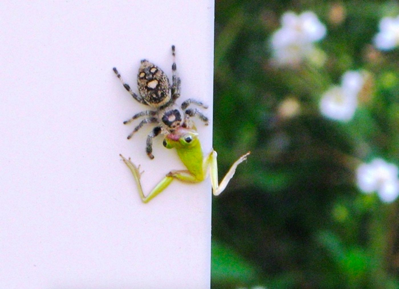
[[[393,202],[399,195],[398,167],[381,158],[361,164],[356,170],[360,190],[369,194],[378,192],[383,202]]]

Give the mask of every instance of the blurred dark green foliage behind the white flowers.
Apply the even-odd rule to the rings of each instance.
[[[271,65],[280,16],[307,10],[326,25],[326,62]],[[399,287],[398,202],[361,193],[355,180],[360,161],[399,164],[399,49],[372,42],[381,18],[398,14],[385,1],[216,1],[219,171],[252,154],[213,199],[213,288]],[[322,117],[322,93],[356,69],[372,84],[354,118]],[[286,99],[298,101],[298,115],[279,113]]]

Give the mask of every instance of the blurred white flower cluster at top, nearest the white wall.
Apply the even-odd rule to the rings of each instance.
[[[315,53],[313,42],[326,35],[326,27],[313,12],[296,15],[286,12],[281,17],[282,27],[271,37],[273,58],[280,65],[295,65]]]

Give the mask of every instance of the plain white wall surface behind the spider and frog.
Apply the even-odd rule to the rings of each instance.
[[[174,182],[142,204],[119,153],[145,171],[148,192],[176,152],[122,121],[143,110],[140,59],[171,77],[176,45],[182,97],[209,104],[211,0],[2,1],[0,4],[0,287],[206,288],[210,182]],[[212,129],[200,121],[205,152]],[[212,124],[212,121],[210,122]]]

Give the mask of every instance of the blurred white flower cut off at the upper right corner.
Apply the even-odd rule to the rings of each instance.
[[[391,50],[399,45],[399,16],[381,19],[374,44],[381,50]]]

